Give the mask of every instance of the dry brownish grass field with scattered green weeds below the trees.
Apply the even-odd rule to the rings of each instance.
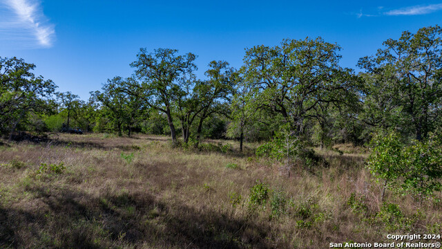
[[[0,248],[329,248],[442,232],[441,194],[421,204],[387,191],[381,203],[361,148],[317,150],[328,164],[298,163],[289,178],[253,145],[240,154],[236,142],[210,142],[200,151],[164,136],[3,140]]]

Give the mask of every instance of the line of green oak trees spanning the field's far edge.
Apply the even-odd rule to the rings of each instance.
[[[254,46],[244,64],[213,61],[198,79],[196,55],[140,49],[132,77],[113,77],[86,102],[56,93],[23,59],[0,58],[0,132],[84,131],[269,140],[281,127],[312,145],[363,145],[376,131],[424,140],[441,127],[442,29],[388,39],[359,59],[360,73],[339,65],[340,46],[321,38]]]

